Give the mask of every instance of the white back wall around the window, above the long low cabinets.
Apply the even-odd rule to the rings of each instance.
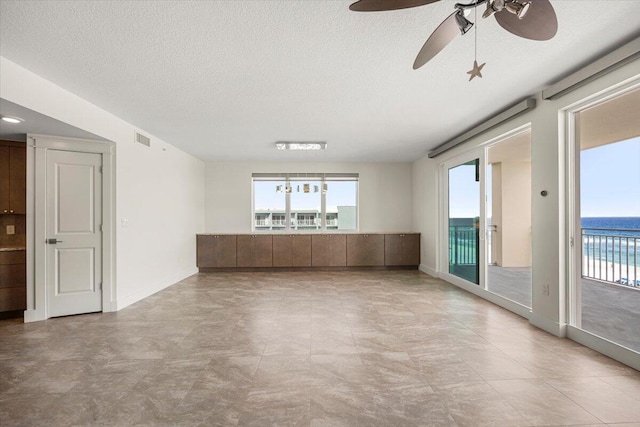
[[[359,230],[412,231],[411,163],[207,162],[206,232],[251,232],[251,174],[277,172],[359,173]]]

